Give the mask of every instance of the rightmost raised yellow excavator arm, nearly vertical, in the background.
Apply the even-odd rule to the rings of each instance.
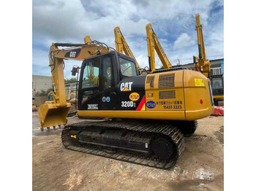
[[[200,71],[208,77],[208,73],[211,70],[211,64],[206,59],[206,50],[205,44],[203,42],[203,26],[200,23],[200,15],[195,15],[196,26],[195,30],[197,31],[197,45],[198,45],[198,57],[194,56],[193,60],[195,63],[195,70]]]

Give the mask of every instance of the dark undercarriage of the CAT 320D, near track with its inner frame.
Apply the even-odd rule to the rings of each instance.
[[[197,125],[187,123],[190,128]],[[150,120],[78,122],[67,125],[61,139],[67,149],[167,169],[177,163],[184,151],[180,125],[181,122]]]

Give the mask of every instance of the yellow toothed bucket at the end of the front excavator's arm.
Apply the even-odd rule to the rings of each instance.
[[[67,103],[67,106],[57,106],[51,101],[46,101],[45,104],[39,106],[38,117],[41,130],[66,124],[70,106],[69,103]]]

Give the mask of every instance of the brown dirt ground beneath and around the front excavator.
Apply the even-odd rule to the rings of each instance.
[[[33,190],[224,190],[224,117],[197,121],[176,166],[161,170],[64,149],[61,130],[41,132],[32,112]]]

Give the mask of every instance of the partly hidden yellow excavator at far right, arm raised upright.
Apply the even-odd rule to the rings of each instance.
[[[203,42],[203,26],[200,23],[200,15],[195,15],[195,31],[197,31],[198,57],[194,56],[195,71],[200,71],[211,80],[211,86],[214,96],[214,105],[218,106],[219,101],[224,100],[224,87],[222,74],[211,74],[211,63],[206,59],[206,50]],[[217,85],[215,85],[217,84]]]

